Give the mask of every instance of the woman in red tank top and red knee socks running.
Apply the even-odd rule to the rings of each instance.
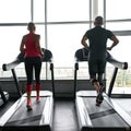
[[[40,90],[40,69],[41,69],[41,51],[39,38],[40,35],[35,34],[35,24],[28,23],[28,34],[24,35],[21,41],[20,51],[25,52],[25,72],[27,76],[26,94],[27,94],[27,110],[32,110],[31,93],[33,87],[33,69],[35,69],[35,88],[36,88],[36,100],[39,102],[39,90]]]

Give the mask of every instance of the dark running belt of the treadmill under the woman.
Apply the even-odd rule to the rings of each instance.
[[[5,123],[8,126],[38,126],[43,109],[45,106],[46,97],[41,97],[40,102],[37,103],[35,97],[32,97],[33,110],[27,111],[26,100],[20,106],[20,108],[14,112],[14,115]]]

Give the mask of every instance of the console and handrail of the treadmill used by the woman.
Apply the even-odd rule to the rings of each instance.
[[[44,51],[44,56],[41,57],[43,62],[52,62],[52,53],[48,49],[41,48]],[[21,62],[24,62],[24,52],[20,52],[16,59],[10,63],[3,63],[2,64],[2,70],[3,71],[9,71],[14,69],[16,66],[19,66]]]

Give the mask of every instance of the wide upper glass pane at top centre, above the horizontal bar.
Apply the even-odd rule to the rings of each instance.
[[[90,0],[47,0],[48,22],[88,21]]]

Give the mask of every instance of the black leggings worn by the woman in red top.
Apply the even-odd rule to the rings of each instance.
[[[25,58],[25,72],[27,76],[27,85],[33,83],[33,69],[35,69],[36,84],[40,84],[40,70],[41,70],[41,58],[40,57]]]

